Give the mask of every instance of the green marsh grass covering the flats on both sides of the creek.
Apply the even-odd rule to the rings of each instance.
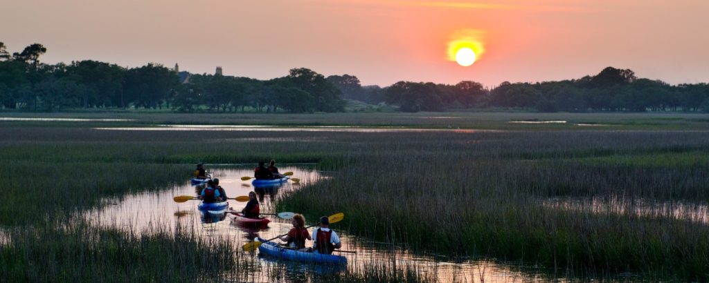
[[[709,132],[703,132],[707,123],[697,120],[703,116],[476,112],[445,114],[459,118],[427,118],[427,115],[432,114],[130,113],[126,116],[138,119],[129,123],[138,126],[152,122],[211,122],[447,128],[450,123],[451,127],[500,126],[515,130],[472,133],[121,132],[90,129],[82,123],[47,122],[50,126],[45,127],[3,122],[0,124],[0,137],[3,137],[0,139],[0,173],[6,183],[0,190],[0,225],[11,229],[33,227],[17,232],[19,238],[31,236],[31,231],[41,227],[38,230],[46,235],[40,239],[43,245],[81,250],[92,245],[81,243],[81,235],[86,232],[57,231],[45,227],[46,221],[60,221],[69,212],[92,207],[100,197],[155,190],[165,184],[182,182],[189,178],[192,166],[198,161],[255,163],[277,158],[281,163],[315,162],[318,168],[338,172],[334,178],[303,187],[278,206],[288,211],[306,212],[308,219],[344,212],[345,220],[337,225],[347,233],[403,243],[415,251],[525,262],[574,270],[581,275],[637,272],[650,278],[709,280],[706,257],[709,228],[705,224],[543,205],[552,197],[616,197],[646,200],[651,204],[678,200],[705,204],[709,199],[709,163],[706,162]],[[613,129],[622,127],[633,131],[569,130],[569,125],[507,123],[525,119],[614,122],[621,126]],[[633,124],[636,121],[644,124]],[[698,131],[674,132],[675,129]],[[56,216],[52,216],[54,214]],[[99,233],[111,234],[111,231]],[[189,236],[186,236],[188,240],[180,240],[182,242],[172,237],[131,237],[118,233],[114,238],[123,241],[130,250],[141,252],[143,241],[156,241],[157,246],[199,246],[199,240],[189,240]],[[116,263],[122,262],[120,259],[115,261],[113,255],[101,258],[111,254],[109,243],[96,247],[104,251],[96,255],[82,252],[76,257],[91,255],[97,262],[116,267],[119,270],[116,278],[163,276],[160,270],[146,270],[143,273],[147,277],[132,277],[134,275],[126,273],[126,267]],[[0,260],[9,262],[9,258],[20,254],[38,253],[41,246],[33,250],[29,242],[13,241],[3,248],[5,258]],[[52,248],[50,253],[50,258],[57,258],[65,252]],[[166,260],[174,256],[171,253],[169,250],[151,252],[155,260]],[[145,260],[136,259],[137,254],[133,253],[133,260]],[[194,249],[189,252],[191,258],[220,256],[226,255]],[[230,256],[238,257],[240,253]],[[30,265],[50,265],[55,270],[69,272],[72,278],[94,279],[84,275],[89,271],[70,270],[72,265],[34,258],[33,255],[17,261],[3,272],[18,280],[40,280],[22,277],[25,275],[17,270]],[[239,266],[245,260],[233,262]],[[183,263],[172,265],[169,270],[177,272],[186,268],[189,272],[169,278],[190,281],[201,278],[211,268],[196,265],[189,269],[186,265],[192,265],[191,262]],[[416,275],[415,270],[371,267],[364,273],[341,275],[338,279],[344,282],[400,281],[425,280],[426,277]]]

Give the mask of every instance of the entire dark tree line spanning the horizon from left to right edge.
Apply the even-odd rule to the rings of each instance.
[[[630,69],[607,67],[596,76],[540,83],[503,82],[485,88],[475,81],[454,85],[398,81],[362,86],[357,76],[306,68],[270,80],[211,74],[177,74],[160,64],[125,68],[85,60],[40,62],[47,52],[35,43],[10,54],[0,42],[0,108],[53,111],[64,108],[152,108],[194,111],[337,112],[342,98],[388,103],[401,111],[517,108],[542,112],[704,111],[707,83],[671,86],[639,79]],[[183,74],[184,73],[184,74]],[[185,76],[187,75],[187,76]],[[180,81],[180,77],[184,81]],[[186,79],[186,80],[185,80]]]

